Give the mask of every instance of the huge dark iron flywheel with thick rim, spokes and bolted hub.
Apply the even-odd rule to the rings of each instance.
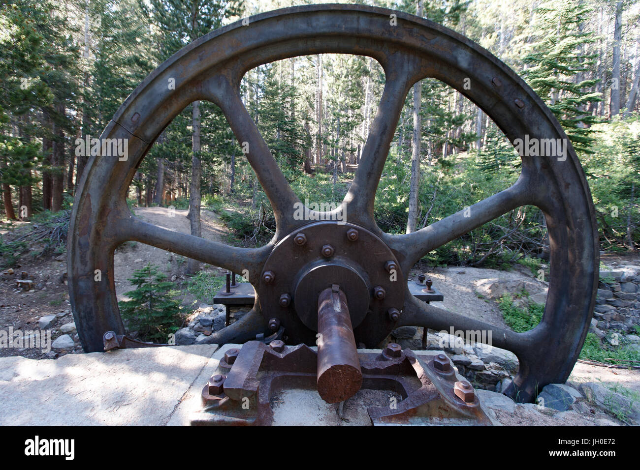
[[[338,278],[348,298],[356,341],[368,347],[375,347],[401,325],[490,330],[493,346],[513,351],[520,361],[518,375],[504,393],[527,401],[545,384],[564,382],[591,319],[599,253],[593,202],[571,145],[566,159],[523,156],[522,173],[511,187],[414,233],[383,233],[373,210],[396,123],[415,82],[434,77],[449,84],[483,109],[511,142],[527,135],[529,139],[566,139],[540,98],[476,43],[406,13],[360,5],[310,5],[263,13],[244,23],[213,31],[165,61],[127,98],[102,133],[101,138],[129,139],[129,158],[91,157],[77,189],[68,272],[84,350],[101,351],[106,331],[124,334],[113,252],[119,244],[137,240],[234,272],[248,272],[257,294],[255,306],[241,320],[213,334],[213,343],[255,339],[268,331],[270,317],[280,318],[289,342],[313,341],[316,290],[329,278]],[[253,67],[319,53],[371,56],[387,79],[344,198],[346,225],[296,220],[298,197],[238,91],[241,77]],[[175,80],[175,89],[168,86],[170,79]],[[141,159],[164,127],[195,100],[220,106],[238,141],[248,143],[246,157],[275,212],[276,233],[266,246],[246,249],[192,237],[145,223],[127,208],[127,189]],[[551,283],[540,325],[514,333],[468,318],[465,306],[454,313],[409,294],[406,276],[422,256],[522,205],[539,207],[548,227]],[[349,230],[358,232],[355,240]],[[306,237],[304,244],[298,243],[300,238],[296,241],[300,232]],[[331,253],[325,245],[331,246]],[[397,279],[390,279],[387,262],[399,267]],[[97,269],[102,281],[95,280]],[[275,278],[266,276],[268,271],[275,272]],[[286,297],[282,301],[282,294],[289,295],[288,301]],[[397,319],[389,314],[394,308],[401,311]]]

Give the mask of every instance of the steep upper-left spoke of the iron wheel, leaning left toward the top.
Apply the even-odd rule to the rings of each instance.
[[[293,230],[301,224],[293,217],[300,199],[291,189],[260,130],[244,107],[238,86],[220,76],[213,77],[211,82],[214,86],[207,90],[210,93],[209,100],[218,104],[227,116],[243,153],[273,207],[278,231],[287,233]]]

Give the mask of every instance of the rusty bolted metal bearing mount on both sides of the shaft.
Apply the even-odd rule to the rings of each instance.
[[[269,426],[271,399],[278,391],[316,389],[317,353],[303,344],[275,343],[249,341],[241,349],[227,350],[202,389],[204,407],[191,425]],[[473,388],[456,379],[449,359],[449,367],[438,356],[425,362],[394,343],[380,354],[359,352],[358,357],[362,389],[401,396],[395,406],[367,407],[372,424],[490,425]]]

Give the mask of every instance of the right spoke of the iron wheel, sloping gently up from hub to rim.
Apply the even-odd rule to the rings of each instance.
[[[451,242],[510,210],[530,204],[533,200],[529,179],[522,175],[520,179],[504,191],[463,208],[425,228],[405,235],[384,235],[388,245],[403,254],[403,270],[408,270],[422,256],[437,247]]]

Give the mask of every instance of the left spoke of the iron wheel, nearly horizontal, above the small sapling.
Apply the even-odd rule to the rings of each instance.
[[[135,240],[225,268],[243,274],[250,282],[259,278],[260,269],[271,248],[269,245],[253,249],[228,246],[150,224],[136,217],[131,217],[126,226],[125,233],[123,233],[124,240]]]

